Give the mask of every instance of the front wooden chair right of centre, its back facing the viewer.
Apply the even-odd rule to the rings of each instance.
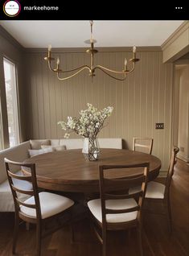
[[[127,171],[141,168],[141,175],[129,176]],[[121,172],[120,172],[121,171]],[[142,205],[146,192],[146,182],[149,163],[132,165],[101,165],[100,198],[89,200],[88,209],[93,221],[93,227],[101,229],[101,234],[95,228],[95,233],[102,244],[103,256],[107,255],[107,231],[135,228],[138,231],[139,250],[142,255]],[[119,174],[121,178],[119,177]],[[128,194],[128,188],[141,186],[141,191],[134,195]],[[117,192],[118,191],[118,192]],[[139,200],[135,200],[138,196]]]

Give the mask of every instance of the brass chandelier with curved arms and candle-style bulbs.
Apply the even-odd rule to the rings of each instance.
[[[73,76],[76,76],[77,74],[79,74],[80,72],[82,72],[84,69],[88,69],[89,71],[89,76],[95,76],[95,71],[96,69],[100,69],[102,72],[104,72],[106,75],[118,80],[118,81],[124,81],[126,78],[126,75],[129,72],[133,72],[134,68],[135,68],[135,62],[137,62],[139,59],[136,58],[136,47],[133,47],[133,58],[131,58],[129,61],[131,63],[133,63],[133,66],[131,69],[127,68],[127,59],[125,58],[124,61],[124,68],[121,71],[117,71],[117,70],[112,70],[109,68],[105,68],[101,65],[96,65],[94,66],[94,55],[98,52],[97,49],[94,48],[94,43],[96,43],[97,41],[95,39],[93,39],[93,33],[92,33],[92,26],[93,26],[93,21],[90,21],[90,26],[91,26],[91,38],[90,38],[90,45],[91,47],[86,51],[88,54],[90,54],[90,66],[88,65],[82,65],[78,68],[73,68],[70,70],[63,70],[60,69],[60,58],[58,57],[56,60],[56,68],[52,68],[51,67],[51,62],[53,60],[55,60],[55,58],[51,57],[51,45],[48,46],[48,54],[47,57],[44,58],[44,60],[47,60],[48,62],[48,67],[52,72],[55,72],[57,74],[57,77],[59,80],[64,81],[67,80]],[[71,72],[71,75],[68,76],[64,76],[64,77],[60,77],[60,74],[66,74]],[[121,77],[117,77],[117,76],[121,76]]]

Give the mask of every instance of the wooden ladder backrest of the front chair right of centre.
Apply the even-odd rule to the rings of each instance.
[[[127,169],[141,168],[142,175],[128,176]],[[119,169],[125,170],[125,176],[121,178],[109,179],[108,172],[113,171],[116,174]],[[102,226],[106,229],[108,225],[106,222],[106,214],[118,214],[118,213],[131,213],[138,211],[138,220],[141,217],[142,204],[146,193],[147,177],[149,172],[149,163],[138,163],[132,165],[101,165],[100,171],[100,193],[101,193],[101,210],[102,210]],[[111,174],[112,175],[112,174]],[[127,193],[128,188],[133,188],[140,185],[142,190],[132,195]],[[118,192],[115,192],[119,188]],[[114,191],[114,192],[113,192]],[[138,205],[130,209],[107,209],[105,207],[105,200],[117,200],[136,198],[139,196]],[[119,225],[119,224],[117,224]],[[114,225],[115,226],[115,225]]]

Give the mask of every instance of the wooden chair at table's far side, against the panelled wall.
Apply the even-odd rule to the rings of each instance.
[[[134,137],[133,139],[133,151],[142,151],[146,154],[152,152],[153,138]]]

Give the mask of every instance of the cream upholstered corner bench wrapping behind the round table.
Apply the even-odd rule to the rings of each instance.
[[[121,138],[98,138],[98,142],[100,148],[122,148]],[[52,147],[64,145],[66,150],[71,150],[81,149],[83,148],[83,144],[83,138],[35,139],[0,151],[0,212],[14,212],[14,202],[7,180],[4,158],[17,162],[23,162],[25,159],[30,157],[28,150],[39,150],[41,149],[41,145],[51,145]],[[13,171],[14,173],[20,173],[18,168],[15,168]],[[27,186],[27,188],[30,189],[30,184],[26,182],[23,184],[22,180],[20,183],[22,186]],[[18,186],[21,184],[18,184]]]

